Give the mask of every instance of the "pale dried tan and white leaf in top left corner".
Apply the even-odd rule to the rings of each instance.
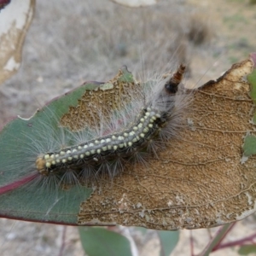
[[[35,1],[12,1],[0,15],[0,84],[20,67],[22,46],[32,22]]]

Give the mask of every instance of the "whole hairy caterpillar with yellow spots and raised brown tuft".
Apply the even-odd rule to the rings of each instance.
[[[173,74],[165,86],[156,84],[158,87],[155,89],[153,84],[147,84],[148,88],[141,88],[150,93],[148,98],[144,99],[145,106],[139,106],[138,101],[143,100],[142,95],[137,99],[132,96],[131,107],[123,110],[124,113],[118,119],[119,127],[117,124],[114,124],[115,127],[108,127],[108,123],[103,124],[101,134],[96,138],[88,139],[87,132],[83,143],[38,156],[38,172],[44,176],[73,172],[74,177],[78,179],[107,172],[113,177],[122,169],[125,160],[135,158],[139,161],[138,154],[141,152],[156,155],[156,142],[160,146],[173,136],[176,128],[173,127],[173,121],[177,119],[175,94],[184,71],[185,67],[180,65],[177,73]],[[131,115],[129,112],[132,110],[134,113]],[[113,123],[116,123],[116,120],[109,125]],[[105,133],[109,134],[103,135]]]

